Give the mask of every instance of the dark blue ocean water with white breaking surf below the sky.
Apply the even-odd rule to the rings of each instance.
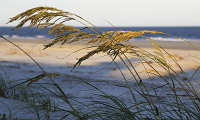
[[[6,38],[14,39],[47,39],[54,37],[52,34],[48,34],[50,28],[38,30],[38,28],[22,27],[11,31],[13,27],[0,27],[0,35]],[[82,28],[82,27],[77,27]],[[127,30],[127,31],[142,31],[153,30],[164,33],[169,33],[188,41],[200,41],[200,27],[99,27],[103,32],[115,31],[115,30]],[[96,30],[96,29],[95,29]],[[100,33],[100,31],[96,30]],[[91,32],[90,29],[84,29],[84,32]],[[181,41],[180,39],[163,35],[163,34],[144,34],[147,37],[151,37],[153,40],[158,41]],[[137,37],[134,40],[145,40],[143,37]]]

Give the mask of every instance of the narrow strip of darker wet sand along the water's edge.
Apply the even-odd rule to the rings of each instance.
[[[35,43],[35,44],[48,44],[52,40],[50,39],[8,39],[14,43]],[[4,39],[0,38],[0,42],[7,42]],[[183,42],[183,41],[155,41],[158,45],[163,47],[164,49],[181,49],[181,50],[198,50],[194,46],[190,45],[189,43]],[[87,41],[78,41],[70,44],[64,44],[64,45],[86,45]],[[129,41],[131,45],[141,47],[141,48],[154,48],[151,41]],[[126,42],[125,44],[129,44]],[[200,42],[197,41],[191,41],[193,45],[200,48]],[[60,44],[57,43],[57,44]],[[95,45],[95,44],[88,44],[89,45]]]

